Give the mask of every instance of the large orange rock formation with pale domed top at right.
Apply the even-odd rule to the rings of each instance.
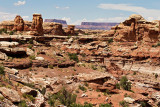
[[[116,42],[156,42],[159,36],[159,22],[147,22],[140,15],[131,15],[114,30]]]

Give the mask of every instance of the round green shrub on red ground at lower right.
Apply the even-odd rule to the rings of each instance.
[[[124,90],[131,90],[131,82],[128,82],[128,79],[126,76],[123,76],[120,80],[120,86],[124,89]]]

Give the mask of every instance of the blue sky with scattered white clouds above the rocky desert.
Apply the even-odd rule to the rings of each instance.
[[[147,20],[160,19],[160,0],[0,0],[0,21],[18,14],[32,20],[33,13],[44,19],[64,19],[69,24],[122,22],[131,14]]]

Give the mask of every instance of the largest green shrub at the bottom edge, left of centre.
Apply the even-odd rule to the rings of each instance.
[[[48,103],[50,106],[54,107],[55,101],[60,101],[61,104],[71,107],[72,104],[76,102],[76,95],[69,93],[65,88],[63,88],[57,94],[49,96]]]

